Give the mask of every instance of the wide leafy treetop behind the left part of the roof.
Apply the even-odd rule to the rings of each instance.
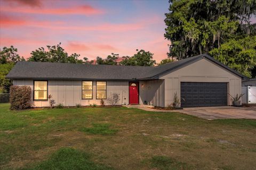
[[[53,63],[83,63],[83,60],[79,60],[79,54],[68,55],[65,52],[59,43],[57,46],[46,46],[47,50],[44,47],[38,48],[35,51],[31,52],[31,56],[28,58],[28,61],[31,62],[53,62]],[[87,63],[88,58],[84,57],[85,63]]]

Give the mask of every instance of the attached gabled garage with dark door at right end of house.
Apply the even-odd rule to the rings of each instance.
[[[245,77],[209,55],[190,57],[169,66],[171,69],[159,75],[164,80],[165,107],[173,103],[175,93],[181,98],[181,107],[209,107],[230,106],[232,99],[228,94],[236,96],[242,92]]]

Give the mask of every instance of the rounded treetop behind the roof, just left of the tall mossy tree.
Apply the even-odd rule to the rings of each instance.
[[[154,66],[156,61],[153,60],[153,53],[146,52],[145,50],[136,49],[137,54],[132,57],[125,56],[124,60],[120,62],[121,65],[139,65],[139,66]]]

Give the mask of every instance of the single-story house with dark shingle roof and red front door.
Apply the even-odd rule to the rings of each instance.
[[[245,78],[226,65],[202,54],[159,66],[90,65],[18,62],[7,75],[13,85],[33,89],[35,107],[56,104],[82,106],[97,104],[111,94],[118,105],[151,103],[167,107],[175,93],[182,107],[228,106],[232,96],[241,94]]]

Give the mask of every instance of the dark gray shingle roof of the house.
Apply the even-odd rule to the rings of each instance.
[[[150,66],[122,66],[122,65],[90,65],[48,62],[18,62],[6,76],[10,79],[45,79],[45,80],[155,80],[159,75],[180,69],[197,60],[206,57],[225,67],[239,77],[243,75],[230,69],[226,65],[214,60],[211,56],[202,54],[180,61],[150,67]]]

